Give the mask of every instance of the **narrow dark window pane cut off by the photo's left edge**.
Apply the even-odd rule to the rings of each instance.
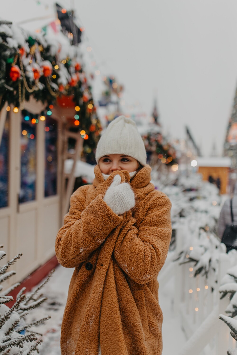
[[[9,117],[7,112],[0,145],[0,208],[8,206]]]

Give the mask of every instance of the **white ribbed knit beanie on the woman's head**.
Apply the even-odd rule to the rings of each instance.
[[[108,154],[126,154],[146,164],[146,149],[136,124],[130,118],[115,118],[101,136],[96,148],[96,162]]]

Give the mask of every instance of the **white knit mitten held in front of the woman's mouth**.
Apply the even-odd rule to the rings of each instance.
[[[104,195],[104,202],[113,210],[114,213],[123,214],[135,206],[135,197],[130,185],[121,182],[121,176],[115,175],[112,184]]]

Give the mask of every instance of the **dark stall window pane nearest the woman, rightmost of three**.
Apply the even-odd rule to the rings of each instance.
[[[57,193],[58,172],[58,122],[46,116],[45,121],[45,180],[44,196],[52,196]]]

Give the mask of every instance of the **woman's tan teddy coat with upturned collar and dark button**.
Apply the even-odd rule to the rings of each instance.
[[[61,327],[62,355],[161,355],[162,312],[157,274],[171,239],[171,203],[150,182],[151,168],[138,171],[131,187],[135,207],[115,214],[103,200],[113,178],[95,166],[92,185],[71,196],[56,237],[61,265],[75,268]]]

